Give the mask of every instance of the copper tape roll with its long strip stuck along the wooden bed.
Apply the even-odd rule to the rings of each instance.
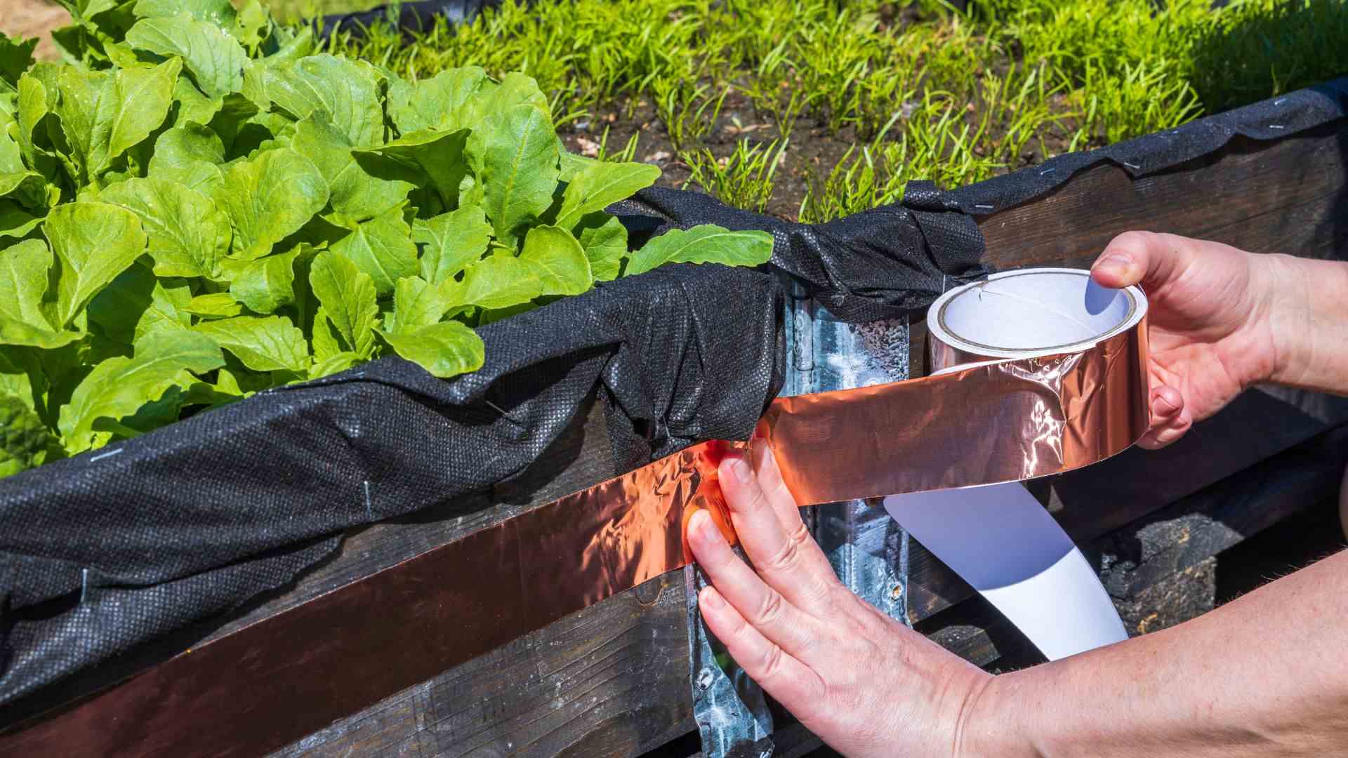
[[[799,504],[1061,473],[1140,437],[1142,293],[1111,294],[1101,313],[1117,324],[1065,349],[1051,340],[1047,349],[989,348],[945,328],[961,309],[965,322],[989,322],[969,305],[993,295],[1018,302],[999,290],[1016,276],[1057,276],[1080,291],[1085,272],[1011,272],[942,295],[929,314],[931,366],[946,370],[940,375],[771,403],[755,434],[771,446]],[[1019,281],[1033,285],[1031,295],[1039,286]],[[1039,308],[1023,295],[1027,309]],[[1074,318],[1088,332],[1097,326],[1095,316]],[[686,565],[683,526],[698,508],[735,541],[717,467],[736,448],[744,444],[693,445],[337,588],[0,735],[0,754],[280,747]]]

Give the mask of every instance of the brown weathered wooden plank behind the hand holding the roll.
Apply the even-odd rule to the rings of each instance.
[[[1345,154],[1348,128],[1332,123],[1274,143],[1237,136],[1219,154],[1140,179],[1096,166],[1057,192],[981,218],[985,260],[1002,268],[1085,266],[1128,229],[1330,256],[1348,237]]]

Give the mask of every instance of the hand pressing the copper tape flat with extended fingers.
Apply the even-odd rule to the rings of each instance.
[[[687,540],[712,580],[698,607],[735,661],[845,755],[956,755],[992,676],[849,592],[810,538],[771,452],[728,456],[721,491],[751,569],[709,515]],[[756,573],[755,573],[756,572]]]

